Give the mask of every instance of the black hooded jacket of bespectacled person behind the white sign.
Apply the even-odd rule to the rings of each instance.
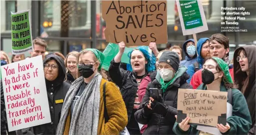
[[[55,60],[58,64],[58,76],[53,81],[49,81],[45,78],[51,122],[33,126],[31,127],[32,129],[21,129],[21,132],[20,130],[18,130],[16,131],[17,134],[31,134],[32,130],[34,134],[55,134],[56,132],[63,102],[56,103],[55,101],[61,99],[64,100],[66,92],[70,87],[70,84],[64,82],[65,65],[61,57],[55,54],[47,55],[43,60],[43,64],[52,59]]]

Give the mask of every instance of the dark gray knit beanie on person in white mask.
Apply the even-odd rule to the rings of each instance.
[[[159,57],[158,62],[165,62],[169,64],[175,71],[177,71],[179,66],[179,57],[176,52],[164,51]]]

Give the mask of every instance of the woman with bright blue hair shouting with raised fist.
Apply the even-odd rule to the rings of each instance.
[[[125,43],[120,42],[119,52],[110,62],[108,73],[113,82],[119,87],[122,98],[125,102],[128,124],[127,129],[130,134],[140,134],[140,128],[134,118],[140,101],[142,100],[148,82],[151,81],[150,72],[155,69],[155,59],[147,50],[137,47],[128,53],[129,64],[127,70],[120,69],[120,61],[125,49]],[[156,46],[155,46],[156,47]]]

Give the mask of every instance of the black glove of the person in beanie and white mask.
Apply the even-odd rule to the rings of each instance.
[[[152,108],[153,112],[161,114],[162,116],[166,115],[168,109],[168,105],[164,103],[161,94],[159,94],[159,101],[152,101],[150,107]]]

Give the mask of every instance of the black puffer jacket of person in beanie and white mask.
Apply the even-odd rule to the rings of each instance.
[[[181,67],[185,68],[185,67]],[[178,70],[179,71],[179,70]],[[140,103],[139,110],[134,114],[137,122],[141,124],[147,124],[147,128],[143,134],[174,134],[172,127],[175,122],[174,115],[177,113],[177,91],[178,88],[192,88],[191,85],[186,83],[186,79],[189,78],[185,71],[180,71],[180,75],[176,75],[173,83],[168,86],[166,91],[163,93],[161,89],[161,84],[159,83],[159,74],[156,75],[156,79],[150,82],[146,88],[146,93]],[[167,113],[163,117],[155,112],[146,115],[144,113],[143,106],[149,100],[149,90],[151,88],[158,88],[158,93],[162,95],[164,103],[168,105]]]

